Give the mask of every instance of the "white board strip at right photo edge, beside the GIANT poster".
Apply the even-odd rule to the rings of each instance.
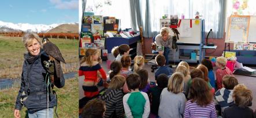
[[[256,43],[256,16],[251,16],[250,17],[248,42],[249,43]]]

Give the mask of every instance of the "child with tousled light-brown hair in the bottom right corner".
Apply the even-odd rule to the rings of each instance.
[[[253,118],[254,112],[253,109],[249,108],[251,106],[253,100],[253,94],[251,90],[247,89],[247,87],[243,84],[238,84],[233,89],[233,100],[235,104],[226,108],[222,117],[228,118],[237,118],[237,117],[246,117]]]

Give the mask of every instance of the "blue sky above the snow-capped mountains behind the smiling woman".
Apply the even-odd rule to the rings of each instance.
[[[78,22],[78,0],[1,1],[0,21],[28,24]]]

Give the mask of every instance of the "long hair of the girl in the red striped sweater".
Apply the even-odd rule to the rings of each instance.
[[[93,62],[92,56],[97,54],[98,54],[98,51],[96,49],[88,48],[86,50],[86,55],[84,55],[84,57],[81,59],[80,64],[86,62],[88,65],[92,66],[92,62]]]

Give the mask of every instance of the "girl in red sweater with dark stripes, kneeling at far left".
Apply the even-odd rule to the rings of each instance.
[[[103,82],[106,83],[106,73],[98,62],[98,51],[92,48],[86,50],[86,55],[81,59],[81,66],[79,68],[79,76],[84,75],[83,90],[84,96],[91,98],[99,94],[98,71],[101,73]]]

